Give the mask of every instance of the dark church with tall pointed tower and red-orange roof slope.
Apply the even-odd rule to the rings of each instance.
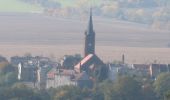
[[[85,46],[83,59],[74,66],[77,73],[87,72],[90,74],[97,68],[101,68],[101,72],[106,72],[106,64],[95,53],[95,31],[93,29],[92,9],[90,9],[90,18],[87,30],[85,31]],[[106,74],[106,73],[105,73]],[[107,76],[107,75],[104,75]]]

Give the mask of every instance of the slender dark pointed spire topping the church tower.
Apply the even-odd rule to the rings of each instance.
[[[92,8],[90,8],[90,18],[89,18],[89,23],[88,23],[88,28],[87,28],[87,34],[91,34],[93,32],[93,18],[92,18]]]

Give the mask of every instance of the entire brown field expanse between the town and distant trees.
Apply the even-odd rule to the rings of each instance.
[[[60,19],[42,15],[0,14],[0,54],[6,57],[24,55],[57,58],[83,54],[84,32],[88,18]],[[105,62],[170,63],[170,32],[150,29],[143,24],[94,17],[96,54]]]

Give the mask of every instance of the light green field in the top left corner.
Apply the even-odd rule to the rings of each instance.
[[[0,12],[42,12],[38,5],[31,5],[19,0],[0,0]]]

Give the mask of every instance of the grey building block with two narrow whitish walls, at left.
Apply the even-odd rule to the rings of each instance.
[[[32,83],[36,88],[46,88],[47,72],[57,64],[47,57],[11,57],[11,63],[18,69],[18,80]],[[31,86],[31,85],[29,85]]]

